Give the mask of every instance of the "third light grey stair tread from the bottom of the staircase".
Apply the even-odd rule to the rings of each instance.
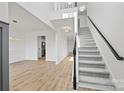
[[[95,73],[108,73],[109,72],[104,68],[87,68],[87,67],[80,67],[79,71],[86,71],[86,72],[95,72]]]

